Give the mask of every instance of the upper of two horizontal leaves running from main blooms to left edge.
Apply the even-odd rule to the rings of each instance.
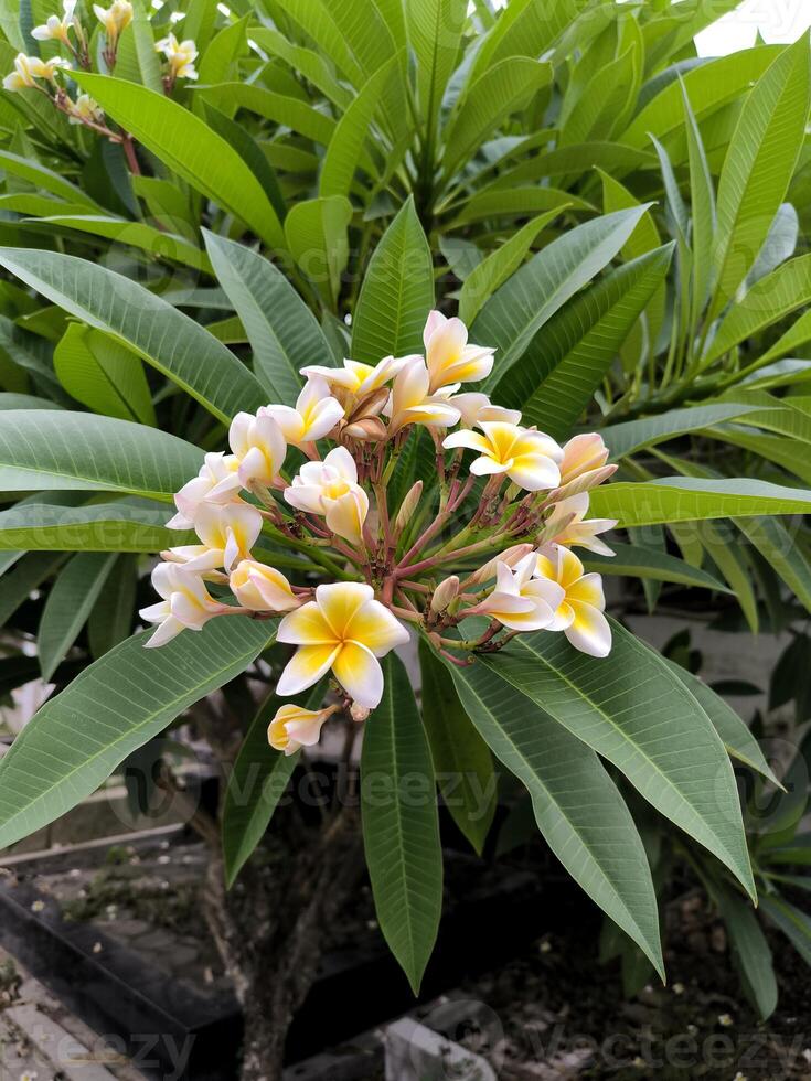
[[[202,451],[168,431],[89,413],[0,415],[0,491],[86,490],[171,500]]]

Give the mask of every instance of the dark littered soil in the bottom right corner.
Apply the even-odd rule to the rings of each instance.
[[[809,968],[778,933],[780,999],[767,1023],[744,998],[723,924],[700,893],[666,908],[666,986],[652,977],[627,998],[618,963],[596,961],[598,936],[598,919],[546,935],[461,988],[480,1020],[456,1038],[484,1055],[499,1081],[811,1079]]]

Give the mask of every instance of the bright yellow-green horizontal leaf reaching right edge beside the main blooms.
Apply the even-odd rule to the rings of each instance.
[[[622,526],[808,514],[810,509],[811,492],[747,478],[661,477],[639,484],[608,484],[595,489],[590,502],[595,517],[618,518]]]

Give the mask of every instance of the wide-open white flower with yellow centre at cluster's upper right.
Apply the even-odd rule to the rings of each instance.
[[[470,472],[477,477],[489,473],[506,473],[511,481],[527,492],[557,488],[561,471],[557,463],[563,451],[551,436],[542,431],[520,428],[503,420],[485,420],[478,431],[453,431],[446,437],[442,447],[468,447],[479,451]]]

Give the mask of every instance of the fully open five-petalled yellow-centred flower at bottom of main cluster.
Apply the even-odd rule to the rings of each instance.
[[[299,649],[281,673],[278,695],[298,694],[327,672],[361,706],[374,709],[383,697],[383,670],[377,657],[405,645],[408,631],[374,599],[364,582],[319,586],[316,599],[279,623],[277,641]]]

